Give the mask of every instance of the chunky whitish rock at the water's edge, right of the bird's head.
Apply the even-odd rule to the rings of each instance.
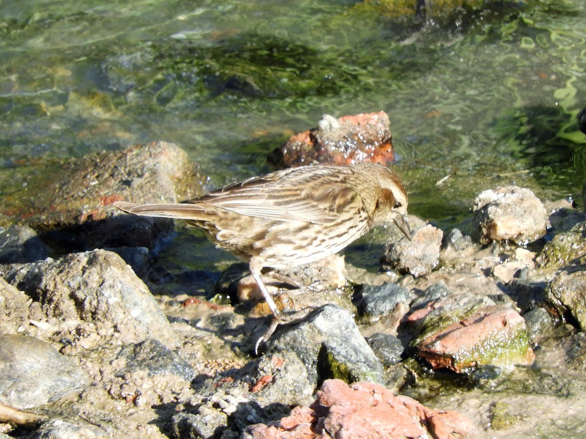
[[[472,238],[481,243],[526,245],[546,233],[547,211],[533,192],[518,186],[483,191],[473,205]]]

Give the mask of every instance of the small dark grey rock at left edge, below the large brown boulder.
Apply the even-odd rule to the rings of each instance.
[[[36,232],[21,225],[0,227],[0,263],[35,262],[49,256]]]

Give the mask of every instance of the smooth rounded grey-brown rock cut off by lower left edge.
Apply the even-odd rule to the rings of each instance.
[[[90,385],[90,377],[50,344],[0,335],[0,403],[29,409]]]

